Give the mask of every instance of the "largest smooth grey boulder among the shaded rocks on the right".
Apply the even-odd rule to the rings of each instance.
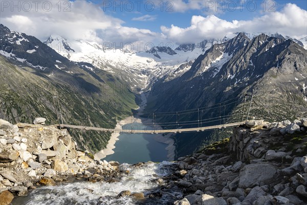
[[[251,164],[240,170],[239,188],[263,186],[274,180],[277,170],[269,164]]]

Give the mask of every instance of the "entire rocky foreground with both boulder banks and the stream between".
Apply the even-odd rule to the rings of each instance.
[[[94,160],[41,123],[0,121],[1,205],[307,203],[307,119],[251,120],[178,161],[136,165]]]

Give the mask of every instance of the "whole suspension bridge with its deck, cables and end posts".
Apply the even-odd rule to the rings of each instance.
[[[250,97],[248,103],[247,103],[247,97]],[[121,128],[100,128],[100,127],[64,124],[59,103],[57,103],[59,108],[59,114],[57,113],[57,111],[56,114],[58,118],[58,127],[60,129],[72,128],[80,130],[94,130],[102,132],[133,133],[133,134],[200,132],[206,130],[223,129],[223,128],[237,127],[240,125],[244,125],[248,120],[252,101],[254,101],[253,95],[246,95],[245,98],[235,97],[218,104],[190,109],[190,110],[140,114],[139,115],[140,117],[144,117],[145,119],[147,118],[149,119],[150,122],[146,120],[147,122],[142,122],[141,125],[138,123],[134,124],[133,116],[131,116],[131,122],[127,122],[127,125],[124,125]],[[234,107],[243,102],[244,106],[242,113],[227,114],[228,112],[227,108]],[[249,104],[249,106],[246,104]],[[54,101],[54,106],[56,107],[55,101]],[[208,113],[210,113],[210,115],[208,115]],[[206,115],[210,117],[206,117]],[[167,119],[169,118],[175,119],[176,117],[176,121],[157,121],[157,119],[161,120],[163,119],[163,117]],[[60,123],[60,119],[62,123]],[[236,120],[241,119],[241,120],[233,121],[234,119]],[[106,127],[110,126],[108,125]]]

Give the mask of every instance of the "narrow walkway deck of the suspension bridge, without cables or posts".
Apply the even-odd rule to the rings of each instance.
[[[149,127],[150,130],[131,130],[131,129],[107,129],[107,128],[96,128],[96,127],[85,127],[85,126],[76,126],[76,125],[64,125],[60,124],[61,128],[74,128],[74,129],[81,129],[81,130],[96,130],[102,132],[118,132],[118,133],[147,133],[147,134],[162,134],[162,133],[181,133],[181,132],[199,132],[204,130],[212,130],[212,129],[222,129],[228,127],[236,127],[240,125],[244,125],[245,122],[234,122],[224,125],[216,125],[216,126],[207,126],[201,128],[184,128],[184,129],[170,129],[170,130],[152,130],[152,127]]]

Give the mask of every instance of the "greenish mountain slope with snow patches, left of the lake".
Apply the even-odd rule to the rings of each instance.
[[[41,116],[47,124],[56,124],[52,97],[58,96],[65,124],[114,127],[117,118],[137,107],[134,94],[119,78],[70,61],[33,36],[3,25],[0,31],[0,118],[32,123]],[[109,133],[72,132],[81,148],[92,151],[104,148],[110,137]]]

